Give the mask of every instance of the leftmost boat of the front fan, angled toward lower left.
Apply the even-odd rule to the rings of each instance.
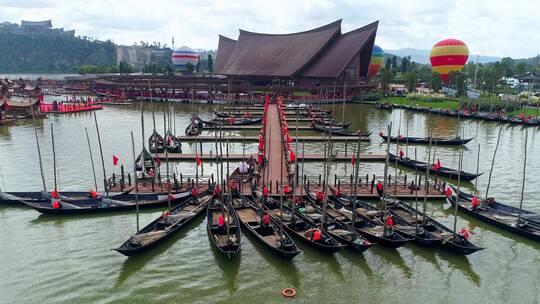
[[[134,256],[156,247],[199,215],[211,198],[210,194],[202,195],[198,199],[190,197],[174,207],[166,218],[158,217],[113,250],[125,256]]]

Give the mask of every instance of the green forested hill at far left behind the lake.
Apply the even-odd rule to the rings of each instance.
[[[69,35],[20,35],[0,32],[0,71],[77,72],[82,65],[116,64],[112,42]]]

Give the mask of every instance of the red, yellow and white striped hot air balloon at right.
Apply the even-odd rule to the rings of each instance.
[[[457,39],[437,42],[429,54],[433,71],[439,73],[445,84],[448,84],[449,74],[461,71],[467,59],[469,59],[469,48],[463,41]]]

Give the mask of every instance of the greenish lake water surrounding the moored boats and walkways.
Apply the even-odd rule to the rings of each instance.
[[[148,105],[145,112],[145,136],[152,129]],[[157,105],[156,124],[163,128],[165,107]],[[176,129],[184,132],[191,114],[209,118],[216,106],[176,105]],[[341,119],[342,109],[335,112]],[[135,145],[141,147],[140,111],[132,107],[106,107],[97,112],[102,134],[107,174],[118,172],[112,155],[118,155],[131,168],[130,131]],[[401,117],[401,119],[400,119]],[[429,126],[434,135],[452,137],[457,120],[428,117],[427,114],[395,110],[380,111],[373,106],[347,105],[345,120],[352,129],[377,132],[386,130],[389,120],[394,130],[410,136],[425,136]],[[401,124],[400,124],[401,122]],[[93,116],[81,113],[50,116],[38,121],[45,176],[52,187],[50,130],[54,125],[58,157],[59,189],[89,190],[94,182],[84,128],[88,128],[101,180],[99,153]],[[478,188],[485,191],[488,171],[502,127],[500,146],[493,169],[490,196],[517,206],[521,191],[525,129],[521,126],[484,121],[461,121],[465,137],[475,139],[464,149],[465,171],[476,171],[477,147],[481,145]],[[290,127],[291,131],[293,130]],[[524,207],[540,212],[540,138],[538,129],[529,129],[529,160]],[[162,133],[162,131],[161,131]],[[239,132],[230,132],[241,136]],[[386,132],[385,132],[386,133]],[[397,131],[394,131],[396,134]],[[303,132],[302,134],[308,134]],[[316,134],[316,133],[313,133]],[[382,141],[373,133],[371,143],[363,143],[365,152],[381,152]],[[306,144],[310,153],[322,152],[322,145]],[[425,146],[416,146],[418,159],[426,158]],[[139,149],[139,148],[137,148]],[[185,152],[193,146],[183,144]],[[205,152],[213,149],[205,144]],[[336,149],[343,152],[344,144]],[[350,145],[349,145],[350,149]],[[395,146],[391,150],[395,152]],[[414,155],[415,147],[408,153]],[[242,145],[231,145],[241,152]],[[404,148],[404,150],[406,150]],[[249,144],[247,152],[255,152]],[[214,151],[213,151],[214,152]],[[437,147],[436,157],[443,166],[458,166],[458,148]],[[231,164],[234,169],[236,164]],[[192,174],[195,164],[171,166],[177,172]],[[384,165],[362,163],[361,174],[382,175]],[[215,166],[204,164],[205,174]],[[232,169],[231,169],[232,170]],[[394,167],[390,173],[394,175]],[[306,164],[306,173],[319,174],[320,164]],[[335,164],[332,174],[351,174],[348,164]],[[398,171],[413,174],[412,171]],[[468,189],[474,183],[465,184]],[[14,126],[0,126],[0,188],[3,191],[40,190],[41,179],[34,129],[30,120]],[[161,213],[144,211],[141,225]],[[451,226],[453,208],[443,201],[430,201],[428,213]],[[458,229],[473,232],[472,241],[485,250],[463,257],[443,250],[408,244],[397,250],[374,246],[363,254],[342,250],[333,255],[305,246],[292,261],[283,261],[266,251],[247,234],[242,237],[240,254],[229,261],[212,249],[205,219],[197,218],[189,227],[158,248],[134,258],[126,258],[111,248],[118,247],[135,232],[132,212],[106,215],[51,217],[24,207],[0,206],[0,302],[2,303],[535,303],[540,301],[537,279],[540,277],[540,244],[504,232],[469,216],[458,214]],[[294,287],[298,294],[285,299],[281,290]]]

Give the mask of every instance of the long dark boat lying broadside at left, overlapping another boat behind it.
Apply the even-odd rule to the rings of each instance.
[[[180,192],[171,195],[171,204],[177,205],[191,197],[190,192]],[[168,204],[168,195],[140,194],[138,195],[139,208],[150,208],[165,206]],[[136,208],[135,194],[124,194],[113,197],[98,197],[84,200],[49,200],[46,202],[26,202],[28,207],[44,214],[51,215],[75,215],[99,212],[113,212],[134,210]],[[54,208],[53,204],[58,202],[59,208]]]

